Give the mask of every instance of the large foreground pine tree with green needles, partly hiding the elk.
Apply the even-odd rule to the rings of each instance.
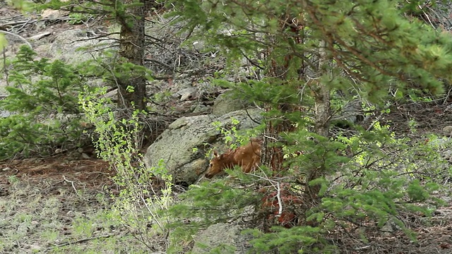
[[[444,91],[444,82],[452,78],[448,71],[452,65],[449,53],[452,38],[403,15],[415,11],[420,2],[181,0],[170,4],[177,10],[174,15],[186,22],[187,29],[198,33],[206,44],[222,49],[231,69],[242,64],[239,59],[246,59],[253,66],[257,78],[227,85],[237,91],[237,96],[266,109],[263,169],[273,172],[270,181],[280,183],[278,191],[284,182],[299,186],[297,195],[302,205],[297,206],[300,219],[297,225],[304,226],[301,230],[306,237],[319,233],[311,229],[337,223],[328,220],[325,211],[348,219],[368,215],[380,223],[396,214],[393,200],[403,199],[403,185],[408,183],[406,179],[395,179],[394,171],[366,171],[360,174],[366,180],[355,178],[355,185],[350,185],[355,188],[340,186],[335,188],[334,195],[326,197],[332,184],[328,179],[336,171],[347,170],[343,174],[352,175],[350,172],[355,167],[352,162],[383,156],[379,152],[382,144],[403,145],[394,141],[391,133],[378,123],[370,132],[357,126],[359,131],[351,139],[333,137],[331,119],[338,93],[343,95],[340,100],[361,97],[379,107],[390,102],[395,91],[397,99],[408,91],[434,95]],[[353,150],[352,157],[344,156],[347,147]],[[338,164],[350,166],[339,169]],[[279,176],[285,180],[278,180]],[[243,179],[242,184],[246,179],[250,181]],[[357,191],[358,185],[361,191]],[[369,186],[375,189],[369,191]],[[203,191],[220,191],[216,187],[206,185]],[[202,195],[199,188],[191,191],[188,195]],[[263,200],[271,195],[268,191]],[[222,206],[218,205],[217,197],[215,205],[227,207],[226,204],[234,203],[230,198],[228,195]],[[214,204],[210,197],[202,202],[200,198],[187,196],[187,199],[199,201],[194,202],[200,206],[202,202]],[[246,203],[244,199],[239,200],[242,205]],[[405,203],[404,207],[410,205]],[[300,228],[290,230],[299,234]],[[273,246],[287,244],[290,250],[285,248],[286,253],[297,250],[297,241],[312,244],[312,238],[285,242],[287,234],[283,229],[273,229],[273,234],[260,235],[261,240],[254,243],[258,248],[261,243],[270,244],[268,239],[273,237]]]

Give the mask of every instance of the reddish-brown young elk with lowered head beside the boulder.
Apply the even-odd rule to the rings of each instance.
[[[251,138],[248,145],[238,147],[236,150],[228,150],[222,155],[213,151],[213,159],[210,160],[210,167],[206,172],[206,178],[220,174],[224,169],[232,169],[235,165],[242,167],[245,173],[254,170],[261,161],[262,140]]]

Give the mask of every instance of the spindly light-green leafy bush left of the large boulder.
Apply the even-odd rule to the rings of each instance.
[[[114,104],[102,97],[105,89],[90,91],[78,97],[88,121],[95,127],[97,136],[93,143],[98,156],[110,163],[116,171],[112,177],[119,187],[114,199],[113,212],[131,234],[140,241],[143,249],[153,250],[158,236],[165,236],[168,217],[161,214],[172,205],[172,176],[165,163],[146,168],[139,150],[141,111],[133,111],[126,118],[119,116]],[[162,183],[158,186],[158,183]]]

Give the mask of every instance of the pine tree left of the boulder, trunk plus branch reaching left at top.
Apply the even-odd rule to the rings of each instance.
[[[119,56],[114,69],[118,86],[118,106],[144,110],[146,106],[146,71],[143,63],[145,49],[144,18],[151,4],[145,0],[73,1],[52,0],[40,8],[54,8],[83,15],[107,16],[120,26]]]

